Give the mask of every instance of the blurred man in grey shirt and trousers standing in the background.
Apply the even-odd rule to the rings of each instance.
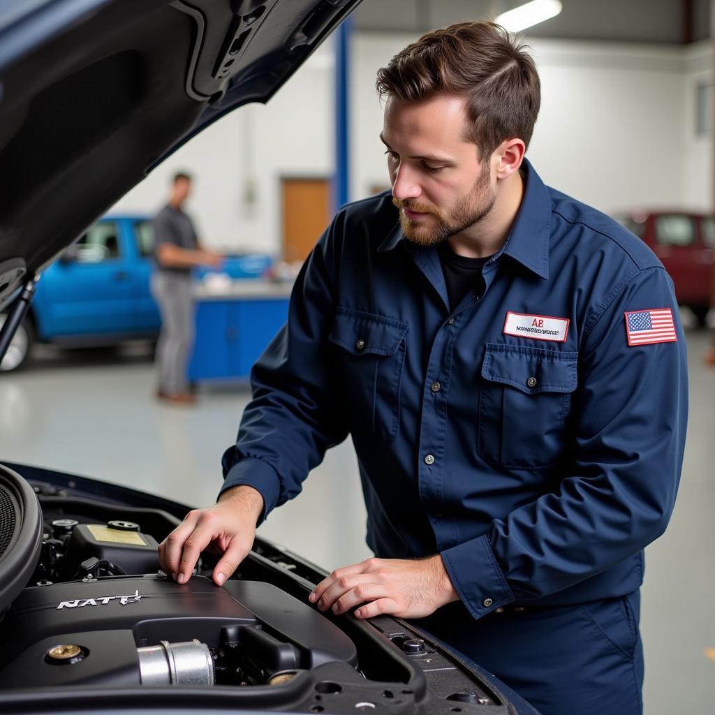
[[[157,344],[157,397],[172,403],[192,403],[187,385],[187,360],[194,341],[194,301],[191,268],[219,267],[222,257],[199,246],[194,225],[183,206],[191,193],[191,177],[174,176],[169,203],[154,217],[152,294],[162,314]]]

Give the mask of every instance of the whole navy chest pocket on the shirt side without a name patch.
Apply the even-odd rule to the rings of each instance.
[[[405,322],[338,308],[328,340],[350,400],[351,430],[392,442],[400,426],[400,383],[405,363]]]

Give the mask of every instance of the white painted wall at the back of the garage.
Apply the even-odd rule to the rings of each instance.
[[[353,199],[387,184],[375,71],[413,39],[353,38]],[[543,99],[528,157],[548,184],[606,211],[712,204],[712,137],[694,133],[695,87],[712,77],[709,42],[530,44]],[[327,41],[267,106],[242,107],[221,119],[155,169],[117,210],[153,212],[171,174],[189,169],[197,177],[189,211],[207,245],[279,255],[280,178],[332,173],[332,71]]]

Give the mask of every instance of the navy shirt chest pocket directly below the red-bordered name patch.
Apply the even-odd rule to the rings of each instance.
[[[578,353],[488,343],[481,378],[479,454],[513,469],[555,463],[578,384]]]

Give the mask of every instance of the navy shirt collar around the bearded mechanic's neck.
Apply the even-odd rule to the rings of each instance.
[[[548,279],[548,242],[551,234],[551,197],[527,159],[524,195],[511,231],[497,255],[506,254],[542,278]],[[390,251],[406,241],[400,222],[388,233],[378,251]]]

